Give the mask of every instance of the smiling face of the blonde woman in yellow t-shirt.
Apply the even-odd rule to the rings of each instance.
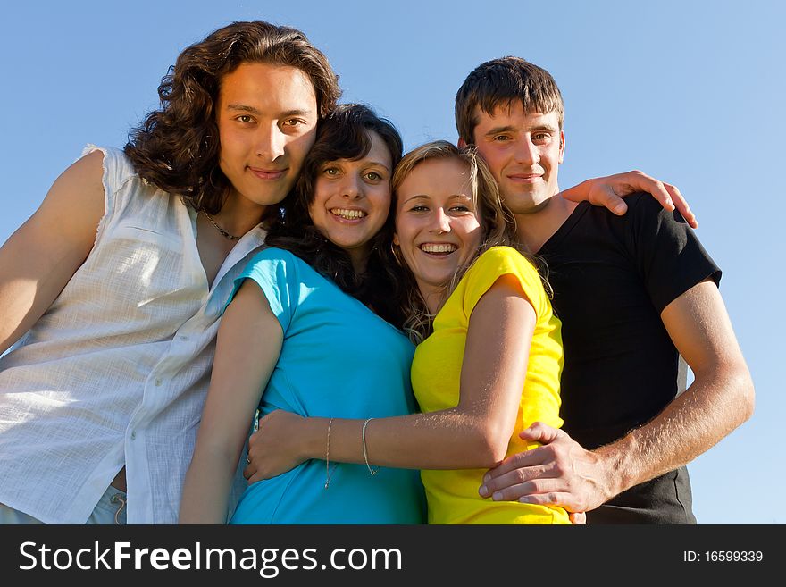
[[[469,169],[460,159],[426,159],[396,192],[393,243],[431,311],[442,289],[481,245]]]

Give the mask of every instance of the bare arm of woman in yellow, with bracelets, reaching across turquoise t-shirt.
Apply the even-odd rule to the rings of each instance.
[[[372,465],[455,469],[491,466],[506,455],[526,377],[535,311],[512,276],[503,276],[472,311],[458,406],[373,420],[366,429]],[[373,385],[373,382],[369,382]],[[330,460],[364,463],[362,420],[334,419]],[[325,458],[325,418],[272,412],[249,444],[250,482]]]

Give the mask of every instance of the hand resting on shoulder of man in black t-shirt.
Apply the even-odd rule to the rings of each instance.
[[[691,228],[698,228],[696,216],[690,212],[690,206],[679,189],[638,170],[587,180],[561,193],[565,199],[573,202],[586,200],[593,205],[604,205],[613,213],[622,216],[628,211],[623,197],[640,191],[651,194],[670,212],[676,207]]]

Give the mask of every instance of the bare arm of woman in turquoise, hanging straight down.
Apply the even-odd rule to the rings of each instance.
[[[251,417],[279,359],[283,331],[262,289],[246,280],[222,316],[213,373],[188,467],[180,524],[225,524]]]

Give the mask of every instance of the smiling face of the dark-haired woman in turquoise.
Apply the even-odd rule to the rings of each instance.
[[[352,258],[362,270],[369,241],[380,231],[390,211],[393,158],[376,132],[372,147],[357,161],[329,161],[317,170],[314,199],[308,206],[314,226]]]

